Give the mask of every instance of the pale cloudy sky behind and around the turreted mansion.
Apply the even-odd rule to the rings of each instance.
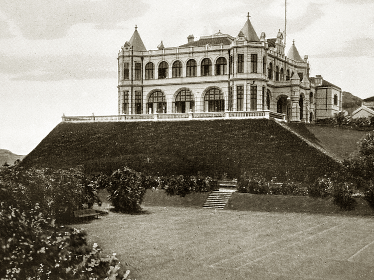
[[[374,96],[374,1],[287,0],[286,53],[311,76]],[[26,155],[61,116],[117,114],[117,57],[135,25],[147,49],[218,31],[236,36],[250,13],[260,36],[285,26],[285,0],[1,0],[0,148]]]

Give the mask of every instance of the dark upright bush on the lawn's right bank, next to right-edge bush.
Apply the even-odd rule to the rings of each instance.
[[[333,202],[344,211],[354,210],[356,199],[352,197],[353,186],[347,182],[333,183]]]

